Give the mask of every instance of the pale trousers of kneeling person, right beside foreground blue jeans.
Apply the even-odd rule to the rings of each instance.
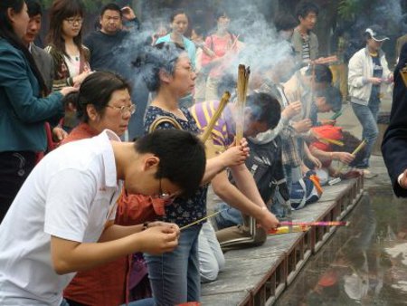
[[[213,282],[224,267],[221,244],[216,238],[211,222],[202,225],[199,234],[199,267],[201,282]]]

